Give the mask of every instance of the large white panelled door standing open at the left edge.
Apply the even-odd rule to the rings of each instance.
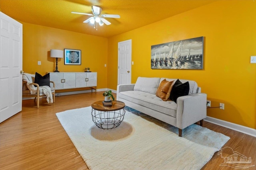
[[[22,110],[22,24],[0,12],[0,122]]]

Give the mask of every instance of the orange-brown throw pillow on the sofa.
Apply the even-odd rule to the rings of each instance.
[[[172,86],[174,85],[174,80],[167,81],[166,79],[162,80],[156,90],[156,96],[166,101],[170,97]]]

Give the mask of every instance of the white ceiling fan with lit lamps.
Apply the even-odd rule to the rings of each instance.
[[[86,14],[86,13],[81,13],[81,12],[71,12],[73,14],[82,14],[82,15],[88,15],[88,16],[92,16],[90,18],[88,18],[87,20],[84,21],[84,23],[92,23],[94,24],[94,28],[95,28],[95,24],[96,27],[99,24],[100,26],[102,26],[104,23],[106,25],[110,25],[111,23],[106,20],[105,18],[120,18],[119,15],[116,14],[100,14],[102,12],[102,8],[99,6],[92,6],[92,13],[93,14]]]

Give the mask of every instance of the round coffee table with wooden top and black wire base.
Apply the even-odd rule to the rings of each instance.
[[[92,104],[92,121],[101,129],[113,129],[124,120],[124,102],[114,100],[112,106],[103,106],[102,101]]]

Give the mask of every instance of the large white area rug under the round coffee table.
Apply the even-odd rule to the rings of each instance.
[[[56,113],[90,170],[200,170],[230,139],[199,125],[178,128],[126,107],[124,121],[100,129],[92,108]]]

